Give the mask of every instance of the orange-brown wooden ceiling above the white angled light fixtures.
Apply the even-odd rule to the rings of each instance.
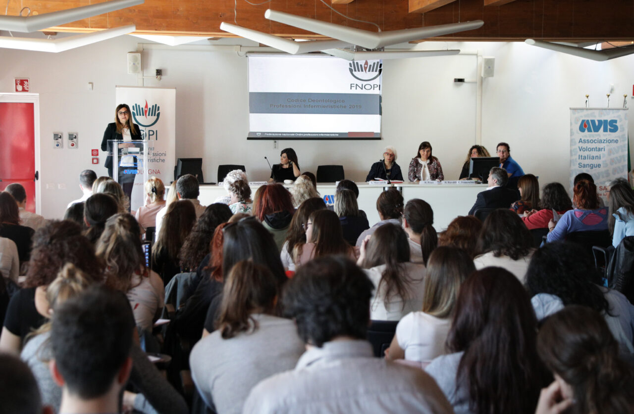
[[[469,32],[436,37],[453,41],[634,41],[632,0],[324,0],[356,20],[376,23],[381,30],[484,20]],[[96,0],[9,0],[8,15],[19,15],[100,3]],[[262,3],[262,0],[250,0]],[[500,5],[501,4],[501,5]],[[234,12],[235,8],[235,12]],[[144,4],[68,23],[48,32],[91,32],[136,25],[136,34],[235,37],[221,22],[295,39],[323,37],[264,18],[266,9],[285,11],[364,30],[377,30],[333,12],[321,0],[271,0],[259,6],[245,0],[145,0]],[[27,9],[23,15],[26,15]]]

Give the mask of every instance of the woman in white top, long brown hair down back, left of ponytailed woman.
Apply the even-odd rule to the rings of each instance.
[[[425,265],[411,263],[407,234],[400,225],[384,224],[366,237],[357,263],[376,287],[372,320],[401,320],[422,307]]]

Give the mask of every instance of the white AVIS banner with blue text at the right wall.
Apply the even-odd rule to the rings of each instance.
[[[628,118],[622,108],[570,108],[570,189],[589,173],[607,202],[607,184],[628,178]]]

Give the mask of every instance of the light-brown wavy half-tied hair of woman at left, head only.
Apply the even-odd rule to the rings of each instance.
[[[117,214],[108,218],[95,250],[106,266],[106,284],[113,289],[127,292],[132,287],[134,273],[146,275],[141,229],[132,215]]]

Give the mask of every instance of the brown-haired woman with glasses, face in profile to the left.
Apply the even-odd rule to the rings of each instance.
[[[356,260],[354,248],[344,239],[337,213],[314,211],[306,223],[306,243],[297,244],[293,249],[295,268],[314,258],[333,254],[343,254]]]

